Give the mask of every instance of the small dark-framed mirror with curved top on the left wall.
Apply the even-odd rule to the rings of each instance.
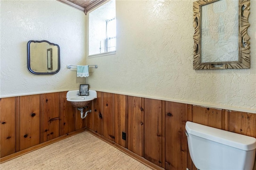
[[[34,74],[60,71],[60,47],[46,40],[28,42],[28,69]]]

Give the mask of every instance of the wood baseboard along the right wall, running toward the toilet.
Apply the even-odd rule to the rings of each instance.
[[[91,134],[93,134],[94,136],[100,138],[101,140],[103,140],[104,142],[107,142],[108,144],[114,146],[115,148],[117,148],[118,150],[124,152],[125,154],[127,154],[128,156],[134,158],[135,160],[139,161],[140,163],[148,166],[149,168],[153,169],[153,170],[164,170],[163,168],[161,168],[160,166],[157,166],[156,164],[146,160],[145,158],[135,154],[134,152],[128,150],[127,148],[124,148],[123,146],[120,146],[119,144],[116,144],[115,142],[113,142],[112,140],[109,140],[108,138],[94,132],[93,130],[87,129],[88,132],[90,132]]]

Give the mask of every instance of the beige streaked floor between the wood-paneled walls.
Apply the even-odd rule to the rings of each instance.
[[[0,164],[1,170],[151,170],[87,131]]]

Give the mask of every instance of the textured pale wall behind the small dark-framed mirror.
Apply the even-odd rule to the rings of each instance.
[[[79,89],[85,78],[66,65],[85,64],[86,16],[56,0],[1,0],[1,97]],[[34,75],[27,69],[27,42],[60,46],[60,71]]]

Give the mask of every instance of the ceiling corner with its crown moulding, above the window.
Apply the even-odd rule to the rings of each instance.
[[[76,8],[77,10],[84,12],[84,14],[87,14],[88,11],[102,4],[106,0],[57,0],[57,1],[62,2],[68,6],[72,6],[73,8]]]

